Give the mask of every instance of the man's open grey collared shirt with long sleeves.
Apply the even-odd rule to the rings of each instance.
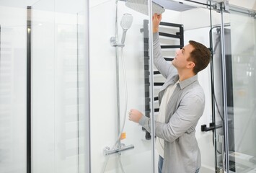
[[[159,92],[161,104],[164,90],[179,79],[177,69],[162,57],[159,35],[153,35],[154,65],[167,79]],[[200,150],[195,127],[203,115],[205,96],[195,75],[177,84],[165,112],[165,123],[155,121],[155,134],[164,139],[163,173],[195,173],[200,168]],[[139,124],[151,132],[151,119],[143,116]]]

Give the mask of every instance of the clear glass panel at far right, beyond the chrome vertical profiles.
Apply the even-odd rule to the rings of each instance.
[[[229,40],[225,40],[229,112],[229,169],[255,172],[255,18],[231,10]]]

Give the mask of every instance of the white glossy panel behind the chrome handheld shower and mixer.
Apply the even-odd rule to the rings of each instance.
[[[116,41],[121,43],[125,30],[120,21],[126,13],[133,16],[132,25],[126,32],[125,46],[117,48],[110,37],[117,35]],[[145,138],[141,126],[128,121],[131,108],[149,111],[145,110],[149,107],[145,105],[145,92],[149,90],[145,91],[144,50],[148,50],[143,32],[144,19],[149,17],[129,9],[125,1],[95,0],[90,1],[89,16],[92,172],[153,172],[151,139]],[[118,148],[115,143],[121,131],[120,143],[131,149],[105,156],[105,147]]]

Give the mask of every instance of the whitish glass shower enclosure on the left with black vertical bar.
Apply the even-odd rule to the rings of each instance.
[[[88,172],[87,1],[0,8],[0,172]]]

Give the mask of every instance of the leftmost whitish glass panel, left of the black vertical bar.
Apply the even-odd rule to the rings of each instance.
[[[0,2],[0,172],[25,173],[27,9]]]

